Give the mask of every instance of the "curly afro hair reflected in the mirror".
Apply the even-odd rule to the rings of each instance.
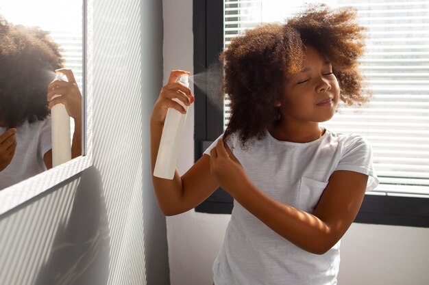
[[[47,85],[63,62],[47,31],[12,25],[0,16],[0,121],[11,128],[45,120]]]

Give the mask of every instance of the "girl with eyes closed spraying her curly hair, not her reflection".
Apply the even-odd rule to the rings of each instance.
[[[341,236],[378,185],[368,142],[319,126],[339,100],[367,101],[355,18],[351,8],[315,5],[232,40],[221,55],[232,112],[225,133],[182,177],[153,176],[165,215],[194,208],[219,186],[234,198],[216,285],[336,284]],[[172,99],[194,101],[175,83],[183,73],[171,72],[154,106],[152,168],[167,108],[184,113]]]

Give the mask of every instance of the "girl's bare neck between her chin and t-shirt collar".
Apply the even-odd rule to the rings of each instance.
[[[291,141],[307,143],[319,139],[325,130],[319,127],[318,122],[306,122],[302,124],[288,124],[288,122],[276,122],[270,128],[269,133],[279,141]]]

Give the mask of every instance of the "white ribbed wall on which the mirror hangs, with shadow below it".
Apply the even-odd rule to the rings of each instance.
[[[149,157],[162,2],[94,2],[94,165],[0,217],[2,285],[169,284]]]

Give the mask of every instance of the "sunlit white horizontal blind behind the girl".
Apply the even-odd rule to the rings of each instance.
[[[225,0],[225,47],[230,38],[244,29],[260,23],[282,22],[304,3],[285,2]],[[340,113],[322,125],[335,132],[359,133],[371,141],[374,166],[381,182],[374,193],[427,197],[429,1],[326,3],[332,7],[356,7],[360,23],[368,28],[367,53],[361,68],[373,99],[363,108],[341,107]],[[258,18],[260,21],[256,23]],[[228,116],[226,101],[225,124]]]

